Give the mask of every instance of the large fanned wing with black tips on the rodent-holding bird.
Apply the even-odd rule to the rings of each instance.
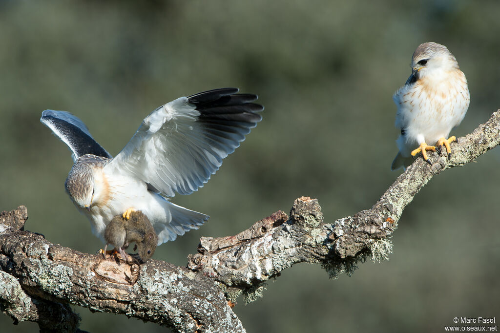
[[[257,95],[220,88],[180,97],[142,120],[104,167],[127,173],[167,196],[203,186],[262,117]]]

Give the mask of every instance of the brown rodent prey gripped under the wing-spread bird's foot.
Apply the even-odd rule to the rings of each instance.
[[[156,249],[158,236],[146,215],[140,210],[132,211],[128,219],[121,215],[114,216],[106,225],[104,230],[106,245],[102,254],[106,257],[107,244],[111,244],[121,254],[123,260],[127,260],[124,248],[131,242],[135,242],[134,250],[137,249],[142,262],[146,262]]]

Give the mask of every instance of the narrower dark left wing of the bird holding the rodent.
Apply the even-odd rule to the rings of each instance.
[[[84,154],[112,157],[93,139],[87,126],[71,113],[45,110],[41,112],[40,121],[67,144],[72,151],[71,157],[73,161]]]

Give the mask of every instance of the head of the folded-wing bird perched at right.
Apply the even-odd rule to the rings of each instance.
[[[417,79],[457,68],[458,62],[446,46],[434,42],[418,45],[411,58],[411,73]]]

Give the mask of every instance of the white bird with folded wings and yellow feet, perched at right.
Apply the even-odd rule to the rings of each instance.
[[[465,75],[446,46],[420,44],[411,58],[411,75],[392,96],[397,106],[395,126],[401,129],[399,148],[391,169],[406,167],[411,156],[421,152],[430,164],[427,151],[441,152],[456,138],[449,132],[460,124],[469,105]],[[429,145],[431,144],[431,145]]]

